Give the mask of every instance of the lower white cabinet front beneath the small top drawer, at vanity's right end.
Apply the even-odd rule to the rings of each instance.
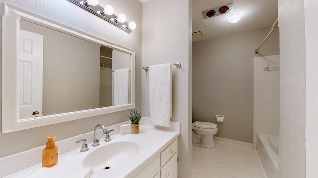
[[[178,178],[178,154],[174,156],[161,168],[161,178]]]

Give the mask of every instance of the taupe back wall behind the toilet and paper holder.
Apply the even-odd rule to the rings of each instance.
[[[259,50],[270,27],[193,43],[193,122],[215,122],[217,137],[253,143],[253,58],[279,54],[278,29]]]

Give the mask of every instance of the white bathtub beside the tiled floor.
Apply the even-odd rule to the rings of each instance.
[[[257,134],[257,153],[268,178],[278,178],[279,137]]]

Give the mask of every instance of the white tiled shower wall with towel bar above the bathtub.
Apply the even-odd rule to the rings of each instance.
[[[254,148],[257,134],[279,136],[279,55],[254,58]]]

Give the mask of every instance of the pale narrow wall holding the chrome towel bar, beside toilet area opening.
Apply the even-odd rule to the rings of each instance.
[[[149,0],[143,4],[143,66],[172,66],[172,121],[181,123],[178,177],[191,177],[192,0]],[[190,22],[189,22],[190,21]],[[150,117],[148,75],[142,71],[142,115]],[[190,133],[190,134],[189,134]],[[158,135],[160,136],[160,135]]]

